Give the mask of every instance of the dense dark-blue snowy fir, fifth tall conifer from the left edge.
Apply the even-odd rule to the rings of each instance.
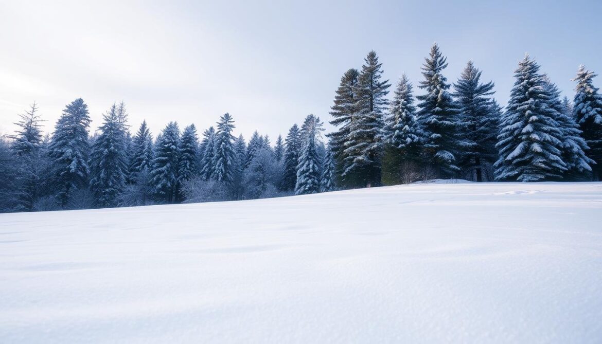
[[[157,138],[155,159],[152,161],[152,185],[160,203],[175,203],[178,200],[179,146],[178,123],[170,122]]]

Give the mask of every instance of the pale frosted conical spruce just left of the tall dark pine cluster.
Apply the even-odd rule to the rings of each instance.
[[[323,122],[320,117],[308,115],[302,126],[303,147],[297,164],[296,195],[315,194],[320,192],[321,160],[317,146]]]

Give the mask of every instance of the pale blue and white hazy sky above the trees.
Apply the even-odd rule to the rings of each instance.
[[[173,120],[200,136],[225,112],[235,134],[272,143],[308,114],[332,131],[347,69],[374,50],[391,84],[407,73],[417,85],[435,41],[448,82],[472,60],[502,105],[526,52],[573,97],[579,64],[602,73],[601,13],[600,0],[0,0],[0,133],[34,100],[52,132],[79,97],[92,131],[122,100],[132,132],[146,119],[156,135]]]

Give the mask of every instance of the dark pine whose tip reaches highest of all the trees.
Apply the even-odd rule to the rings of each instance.
[[[426,94],[417,97],[421,100],[417,116],[424,130],[424,159],[436,169],[438,177],[452,177],[459,171],[456,152],[462,142],[458,140],[458,105],[448,91],[450,84],[441,74],[447,67],[447,59],[435,43],[424,61],[424,81],[418,87],[426,90]]]

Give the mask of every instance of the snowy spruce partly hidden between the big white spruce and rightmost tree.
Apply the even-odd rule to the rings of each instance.
[[[588,149],[582,132],[579,130],[579,124],[573,118],[573,109],[570,108],[568,98],[560,100],[560,91],[556,84],[550,81],[547,76],[546,82],[547,96],[549,97],[549,106],[556,111],[556,121],[562,131],[562,161],[565,162],[567,170],[562,176],[563,180],[591,180],[592,168],[594,164],[584,151]]]

